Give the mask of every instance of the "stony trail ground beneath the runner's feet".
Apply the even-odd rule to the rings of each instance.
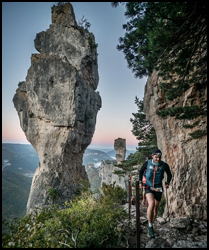
[[[128,211],[128,203],[124,205]],[[207,221],[187,217],[157,216],[153,228],[155,238],[147,237],[147,209],[140,204],[140,248],[207,248]],[[129,248],[136,248],[136,207],[131,206],[131,230],[127,235]]]

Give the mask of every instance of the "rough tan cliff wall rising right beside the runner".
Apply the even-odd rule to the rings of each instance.
[[[183,125],[191,121],[166,119],[157,116],[156,110],[185,105],[207,106],[206,90],[191,87],[174,101],[166,101],[159,88],[160,79],[154,72],[148,78],[144,94],[144,112],[157,134],[158,148],[162,151],[162,160],[167,162],[173,175],[168,189],[169,212],[171,217],[190,216],[196,219],[207,218],[207,136],[191,139],[189,133],[207,127],[207,117],[195,128],[185,129]],[[167,211],[167,208],[165,209]]]

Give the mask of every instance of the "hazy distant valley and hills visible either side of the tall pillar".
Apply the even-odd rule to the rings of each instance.
[[[134,151],[127,150],[126,157]],[[103,160],[115,160],[114,149],[87,148],[83,156],[83,165],[93,192],[101,186],[99,168]],[[26,214],[26,204],[31,182],[39,158],[30,144],[2,143],[2,218],[11,220]],[[2,228],[4,231],[4,228]]]

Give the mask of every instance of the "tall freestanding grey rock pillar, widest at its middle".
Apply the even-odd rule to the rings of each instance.
[[[83,153],[101,98],[95,38],[79,27],[70,3],[52,7],[52,24],[36,35],[26,81],[13,98],[20,125],[39,156],[27,213],[62,204],[88,180]]]

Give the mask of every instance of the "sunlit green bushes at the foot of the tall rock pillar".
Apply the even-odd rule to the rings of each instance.
[[[128,215],[108,197],[95,200],[84,192],[66,202],[64,209],[53,205],[14,220],[11,233],[2,236],[2,247],[124,247],[126,231],[119,223]]]

